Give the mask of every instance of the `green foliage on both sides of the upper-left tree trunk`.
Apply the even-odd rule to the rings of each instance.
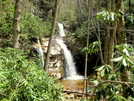
[[[14,5],[11,0],[0,0],[0,37],[3,40],[1,46],[11,46],[13,32]],[[49,36],[51,22],[43,22],[41,18],[31,13],[21,15],[21,44],[26,45],[28,38]],[[23,47],[22,46],[22,47]]]

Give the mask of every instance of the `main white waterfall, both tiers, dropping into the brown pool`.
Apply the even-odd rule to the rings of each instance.
[[[60,25],[61,25],[61,23],[60,23]],[[59,31],[62,30],[64,32],[64,29],[62,26],[59,26]],[[63,34],[62,33],[59,33],[59,34],[62,37]],[[64,33],[64,36],[65,36],[65,33]],[[71,79],[71,80],[83,79],[82,76],[78,75],[78,73],[76,71],[75,63],[73,60],[73,56],[72,56],[71,52],[67,49],[67,46],[66,46],[66,44],[64,44],[64,41],[62,39],[56,39],[56,41],[64,51],[65,79]]]

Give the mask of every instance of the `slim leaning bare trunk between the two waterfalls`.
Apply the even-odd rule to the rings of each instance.
[[[44,66],[45,71],[48,71],[48,63],[49,63],[49,58],[50,58],[50,51],[51,51],[51,47],[52,47],[52,40],[53,40],[53,37],[54,37],[56,20],[57,20],[58,3],[59,3],[59,0],[55,0],[55,12],[54,12],[54,16],[53,16],[51,35],[50,35],[50,39],[49,39],[46,62],[45,62],[45,66]]]

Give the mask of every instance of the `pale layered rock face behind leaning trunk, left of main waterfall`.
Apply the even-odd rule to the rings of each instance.
[[[47,53],[49,38],[42,38],[42,49],[44,54]],[[49,75],[55,77],[56,79],[64,77],[64,70],[63,70],[63,54],[62,49],[56,42],[53,40],[52,48],[50,52],[50,62],[49,62]]]

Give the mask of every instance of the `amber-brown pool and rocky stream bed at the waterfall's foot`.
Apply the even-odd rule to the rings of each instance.
[[[60,85],[63,86],[63,96],[65,101],[80,101],[82,97],[89,99],[91,97],[91,92],[84,90],[83,92],[84,80],[61,80]],[[87,81],[87,89],[92,87],[93,84]],[[83,96],[84,94],[84,96]],[[74,100],[76,99],[76,100]]]

